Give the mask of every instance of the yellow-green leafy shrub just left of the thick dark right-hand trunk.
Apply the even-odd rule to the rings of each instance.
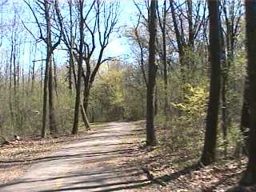
[[[206,86],[186,84],[181,102],[171,102],[173,110],[178,111],[168,122],[168,135],[173,150],[186,147],[188,150],[201,149],[203,140],[206,103],[208,91]]]

